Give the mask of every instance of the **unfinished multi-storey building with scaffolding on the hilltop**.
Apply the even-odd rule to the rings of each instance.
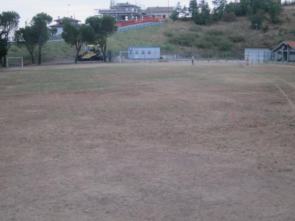
[[[117,3],[115,0],[111,0],[110,8],[108,9],[94,9],[94,15],[98,17],[111,15],[116,22],[130,21],[149,16],[143,4]]]

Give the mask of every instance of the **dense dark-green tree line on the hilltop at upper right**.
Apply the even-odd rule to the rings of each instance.
[[[210,9],[207,0],[190,0],[189,6],[181,6],[177,2],[173,11],[172,20],[192,20],[198,25],[208,25],[220,20],[230,22],[235,21],[237,16],[248,16],[252,27],[260,28],[267,15],[272,23],[278,23],[278,15],[282,12],[280,3],[273,0],[213,0],[213,8]]]

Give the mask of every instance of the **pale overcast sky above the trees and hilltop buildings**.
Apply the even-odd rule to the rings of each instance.
[[[126,2],[127,0],[118,0],[118,2]],[[153,6],[168,6],[168,0],[128,0],[130,3]],[[188,6],[189,0],[180,0],[181,5]],[[169,0],[169,6],[175,6],[177,0]],[[70,4],[70,6],[67,6]],[[83,23],[89,16],[94,15],[93,9],[109,8],[110,0],[1,0],[0,11],[16,11],[21,16],[20,27],[25,26],[26,20],[40,12],[45,12],[53,17],[53,20],[60,17],[67,17],[67,9],[69,8],[69,16],[81,20]]]

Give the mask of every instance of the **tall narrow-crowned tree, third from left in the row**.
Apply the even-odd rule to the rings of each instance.
[[[41,49],[48,40],[48,25],[52,22],[52,17],[46,13],[38,13],[32,18],[32,26],[38,35],[38,64],[41,64]]]

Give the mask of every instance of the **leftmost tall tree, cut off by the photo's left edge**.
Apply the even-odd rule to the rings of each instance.
[[[3,11],[0,14],[0,58],[4,57],[3,66],[6,66],[8,41],[12,40],[14,31],[18,28],[20,15],[15,11]]]

